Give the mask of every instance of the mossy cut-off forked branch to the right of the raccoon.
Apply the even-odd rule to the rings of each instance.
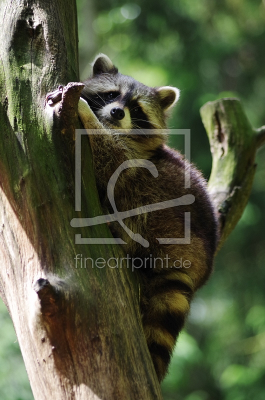
[[[253,129],[238,98],[209,101],[200,109],[212,154],[208,182],[220,223],[222,246],[248,201],[255,173],[255,154],[265,142],[265,126]]]

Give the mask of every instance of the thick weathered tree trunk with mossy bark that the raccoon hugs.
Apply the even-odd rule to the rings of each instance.
[[[75,244],[75,233],[110,237],[104,224],[70,227],[100,214],[87,138],[74,211],[79,88],[59,118],[45,107],[47,92],[78,81],[75,1],[2,0],[0,23],[0,292],[34,398],[159,399],[133,273],[126,263],[75,268],[76,254],[123,256],[117,245]]]

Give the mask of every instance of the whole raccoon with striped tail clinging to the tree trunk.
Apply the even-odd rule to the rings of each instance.
[[[79,117],[86,129],[104,129],[105,133],[89,135],[98,193],[105,213],[113,212],[106,193],[107,183],[126,160],[151,161],[158,176],[137,166],[123,170],[114,187],[118,211],[186,194],[195,198],[192,204],[156,209],[123,220],[148,246],[131,238],[117,221],[110,225],[113,236],[126,243],[123,244],[125,252],[133,257],[134,265],[137,263],[143,330],[161,381],[192,297],[212,269],[218,236],[214,208],[202,174],[190,165],[190,188],[185,188],[187,160],[166,145],[164,129],[179,97],[177,88],[148,87],[119,73],[104,54],[95,58],[92,75],[83,83]],[[185,212],[190,212],[190,244],[173,244],[170,238],[185,235]],[[157,239],[161,237],[165,238],[163,244]]]

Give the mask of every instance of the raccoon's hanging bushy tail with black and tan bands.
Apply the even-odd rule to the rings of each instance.
[[[164,378],[176,338],[183,328],[193,294],[184,271],[160,271],[146,276],[141,300],[147,345],[159,382]],[[145,279],[144,279],[145,280]]]

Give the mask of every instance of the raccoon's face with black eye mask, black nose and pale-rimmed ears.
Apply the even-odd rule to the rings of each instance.
[[[163,129],[168,110],[179,97],[175,87],[148,87],[122,75],[104,54],[94,60],[92,76],[84,84],[81,97],[104,125],[114,129]]]

